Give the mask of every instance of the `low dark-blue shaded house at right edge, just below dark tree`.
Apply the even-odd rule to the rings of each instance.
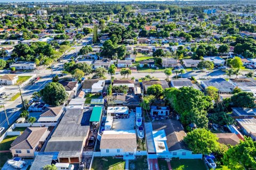
[[[256,118],[256,108],[232,107],[233,118]]]

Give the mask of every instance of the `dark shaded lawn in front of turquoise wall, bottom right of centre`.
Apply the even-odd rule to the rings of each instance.
[[[172,160],[171,166],[173,170],[204,170],[205,164],[202,159],[180,159]]]

